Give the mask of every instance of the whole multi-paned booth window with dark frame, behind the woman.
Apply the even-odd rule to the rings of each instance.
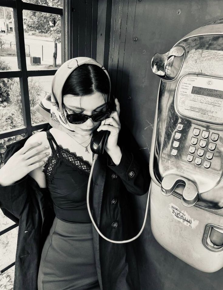
[[[0,0],[0,167],[6,146],[46,128],[33,109],[69,55],[69,0]],[[18,226],[0,210],[0,288],[14,280]],[[8,285],[8,284],[7,284]]]

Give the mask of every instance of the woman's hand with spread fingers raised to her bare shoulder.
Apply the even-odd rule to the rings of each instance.
[[[49,148],[49,146],[42,146],[41,143],[27,143],[8,159],[0,169],[0,185],[6,186],[15,183],[46,162],[49,154],[41,152]]]

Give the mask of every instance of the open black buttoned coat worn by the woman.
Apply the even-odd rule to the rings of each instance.
[[[50,128],[48,126],[47,130]],[[4,163],[24,146],[28,138],[7,146]],[[106,237],[126,240],[140,230],[136,223],[134,200],[147,193],[150,174],[148,163],[142,158],[136,141],[123,124],[118,145],[122,150],[118,166],[106,152],[96,160],[90,206],[96,224]],[[13,290],[37,290],[42,247],[55,218],[49,190],[40,188],[27,174],[15,184],[0,186],[0,207],[8,218],[19,224]],[[135,241],[127,244],[110,243],[101,238],[93,227],[93,243],[101,289],[141,290],[137,268],[137,259],[140,257],[137,256]]]

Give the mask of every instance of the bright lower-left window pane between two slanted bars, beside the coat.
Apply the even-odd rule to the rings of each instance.
[[[18,227],[0,236],[0,269],[15,262]]]

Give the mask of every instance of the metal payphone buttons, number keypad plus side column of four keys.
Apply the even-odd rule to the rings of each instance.
[[[180,142],[178,140],[180,140],[181,134],[182,134],[182,133],[179,133],[179,131],[182,131],[182,130],[183,130],[183,124],[178,123],[177,124],[177,131],[174,134],[174,139],[175,139],[173,141],[173,147],[174,148],[172,148],[172,150],[171,150],[171,155],[172,156],[176,156],[177,155],[177,148],[179,147],[179,144],[180,144]],[[199,140],[198,136],[200,135],[200,133],[201,133],[201,137],[203,139]],[[193,135],[194,136],[191,137],[191,145],[189,145],[189,148],[188,148],[189,154],[187,154],[187,161],[188,162],[192,162],[193,161],[195,164],[201,165],[202,161],[203,161],[203,159],[201,157],[206,158],[208,160],[211,160],[213,158],[214,153],[211,152],[211,151],[214,151],[216,149],[216,143],[208,142],[208,140],[204,140],[204,139],[207,139],[209,137],[209,135],[210,135],[209,131],[202,130],[202,132],[201,132],[200,129],[194,128],[193,129]],[[211,133],[211,137],[210,137],[211,140],[210,141],[216,142],[218,140],[218,137],[219,137],[219,134]],[[201,148],[198,148],[196,150],[196,146],[195,145],[198,145],[198,144],[199,144],[199,147],[201,147]],[[206,147],[207,144],[208,144],[208,148]],[[205,147],[209,151],[205,152]],[[195,153],[195,151],[196,151],[196,153]],[[194,154],[194,153],[197,156],[191,155],[191,154]],[[211,161],[208,161],[208,160],[204,159],[204,162],[203,162],[204,168],[209,168],[211,166]]]

